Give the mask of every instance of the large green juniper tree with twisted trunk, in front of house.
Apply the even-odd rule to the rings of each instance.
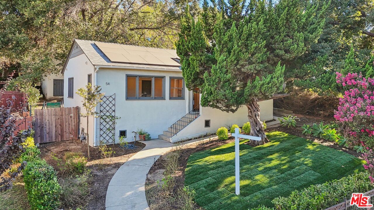
[[[325,25],[326,4],[245,2],[221,0],[218,8],[213,2],[197,21],[187,10],[177,53],[187,88],[199,88],[202,93],[201,105],[226,112],[245,105],[251,135],[260,136],[265,143],[269,140],[260,121],[258,101],[284,95],[278,93],[283,90],[285,71],[318,40]],[[211,31],[205,30],[211,30],[212,22],[210,36]]]

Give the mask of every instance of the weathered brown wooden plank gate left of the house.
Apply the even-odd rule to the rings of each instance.
[[[77,139],[79,107],[61,107],[34,110],[35,143]]]

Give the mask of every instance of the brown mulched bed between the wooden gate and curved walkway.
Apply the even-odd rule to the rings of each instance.
[[[122,149],[118,145],[108,145],[108,148],[112,148],[116,153],[111,158],[107,158],[105,161],[99,153],[97,147],[90,147],[90,159],[88,160],[87,167],[91,169],[93,175],[93,182],[91,185],[91,197],[89,203],[86,206],[88,210],[105,210],[105,195],[107,194],[107,188],[111,178],[117,169],[122,166],[129,158],[144,148],[144,144],[136,142],[137,149]],[[87,145],[82,145],[80,140],[67,140],[61,142],[51,142],[40,145],[40,157],[44,158],[47,163],[52,165],[57,171],[59,167],[57,162],[52,159],[51,153],[55,153],[56,157],[62,158],[65,152],[82,152],[87,157]],[[58,174],[59,178],[63,177],[61,173]],[[65,208],[64,208],[65,209]]]

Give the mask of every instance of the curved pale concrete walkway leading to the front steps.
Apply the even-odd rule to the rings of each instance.
[[[190,145],[207,140],[209,138],[195,139],[183,144]],[[145,198],[145,178],[153,163],[170,151],[174,144],[162,139],[142,143],[145,143],[145,147],[119,167],[110,180],[105,198],[106,210],[149,210]]]

